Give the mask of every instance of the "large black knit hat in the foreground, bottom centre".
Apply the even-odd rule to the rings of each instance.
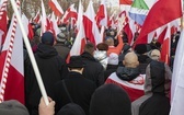
[[[127,93],[116,84],[103,84],[92,95],[90,115],[131,115]]]

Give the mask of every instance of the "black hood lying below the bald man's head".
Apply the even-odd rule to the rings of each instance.
[[[116,74],[122,80],[131,81],[140,74],[140,71],[138,68],[118,67]]]

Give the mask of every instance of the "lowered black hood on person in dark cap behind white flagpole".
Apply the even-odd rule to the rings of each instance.
[[[41,58],[50,58],[50,57],[57,56],[58,53],[53,46],[41,43],[37,47],[36,55]]]

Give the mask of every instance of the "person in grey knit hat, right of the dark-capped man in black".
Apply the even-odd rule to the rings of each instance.
[[[70,48],[65,45],[66,42],[67,36],[64,33],[59,33],[56,37],[56,44],[54,45],[59,56],[62,57],[65,60],[70,53]]]

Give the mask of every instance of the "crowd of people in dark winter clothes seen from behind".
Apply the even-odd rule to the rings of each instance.
[[[76,33],[66,25],[54,36],[34,25],[31,46],[48,94],[46,105],[24,49],[25,106],[0,104],[2,115],[169,115],[172,65],[180,33],[172,36],[171,62],[160,61],[161,44],[131,47],[126,33],[104,33],[104,43],[88,42],[66,62]],[[136,38],[135,38],[136,39]],[[162,106],[162,107],[161,107]]]

